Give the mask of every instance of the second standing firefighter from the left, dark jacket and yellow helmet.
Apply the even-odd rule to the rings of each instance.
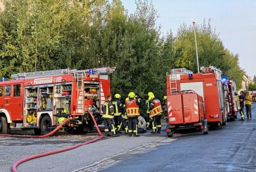
[[[122,133],[120,129],[122,127],[123,104],[120,98],[121,98],[120,94],[115,94],[115,99],[112,101],[112,104],[114,106],[115,130],[118,133]]]

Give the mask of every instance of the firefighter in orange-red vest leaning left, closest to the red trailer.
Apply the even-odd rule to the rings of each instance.
[[[148,93],[148,100],[150,100],[149,111],[150,111],[150,118],[153,119],[152,121],[152,131],[151,133],[160,133],[161,132],[161,114],[163,113],[163,109],[161,106],[160,100],[158,100],[154,93]],[[156,131],[157,130],[157,131]]]

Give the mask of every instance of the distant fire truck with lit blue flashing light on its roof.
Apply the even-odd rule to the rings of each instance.
[[[227,77],[222,77],[223,88],[225,91],[225,104],[227,111],[227,119],[235,120],[240,109],[239,98],[236,93],[236,82],[228,80]]]

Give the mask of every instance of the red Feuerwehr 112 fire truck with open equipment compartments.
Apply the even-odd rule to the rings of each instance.
[[[93,122],[86,111],[102,123],[100,108],[110,95],[113,71],[105,67],[12,75],[12,81],[0,82],[0,134],[28,129],[46,134],[69,116],[68,132],[88,132]]]

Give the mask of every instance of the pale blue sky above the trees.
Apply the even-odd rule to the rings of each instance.
[[[149,0],[150,1],[150,0]],[[128,13],[136,10],[135,0],[122,0]],[[248,75],[256,75],[256,1],[255,0],[153,0],[163,33],[185,22],[202,24],[211,19],[225,47],[239,54],[239,63]],[[199,57],[200,58],[200,57]]]

